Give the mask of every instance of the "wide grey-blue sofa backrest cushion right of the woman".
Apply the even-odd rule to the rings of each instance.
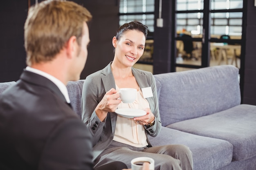
[[[154,75],[162,126],[240,104],[238,68],[211,66]]]

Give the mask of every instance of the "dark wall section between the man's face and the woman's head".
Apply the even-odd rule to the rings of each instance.
[[[117,0],[73,1],[83,4],[92,13],[88,59],[81,73],[81,79],[85,79],[90,73],[104,68],[114,58],[112,38],[119,28],[119,4]]]

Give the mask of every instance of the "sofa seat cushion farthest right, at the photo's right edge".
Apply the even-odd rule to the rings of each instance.
[[[241,161],[256,155],[256,106],[253,105],[241,104],[167,127],[229,141],[234,147],[234,160]]]

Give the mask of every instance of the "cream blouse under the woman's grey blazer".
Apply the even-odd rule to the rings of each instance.
[[[119,88],[116,85],[117,91]],[[136,108],[142,109],[149,108],[148,101],[144,99],[141,89],[137,91],[137,98],[133,103],[123,103],[118,105],[118,108]],[[148,145],[146,132],[143,125],[137,123],[137,121],[117,115],[116,128],[114,141],[121,142],[141,148]]]

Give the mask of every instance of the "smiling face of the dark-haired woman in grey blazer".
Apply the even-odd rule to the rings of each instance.
[[[133,66],[141,57],[145,48],[146,37],[137,30],[126,31],[117,41],[114,37],[112,44],[115,47],[115,57],[124,66]]]

